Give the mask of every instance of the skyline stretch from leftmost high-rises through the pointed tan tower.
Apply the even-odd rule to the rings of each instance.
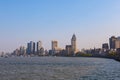
[[[51,42],[51,50],[47,51],[44,50],[42,47],[42,42],[38,41],[37,43],[30,41],[27,43],[27,47],[21,46],[19,49],[16,49],[13,51],[12,55],[16,56],[44,56],[44,55],[59,55],[59,56],[65,56],[65,55],[75,55],[77,53],[77,47],[76,47],[76,36],[73,34],[71,38],[71,45],[66,45],[65,49],[58,47],[58,41],[53,40]]]

